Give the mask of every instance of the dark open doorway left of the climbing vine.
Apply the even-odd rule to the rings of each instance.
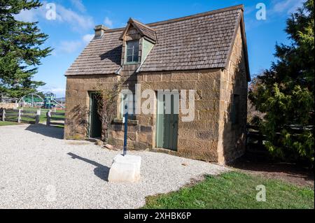
[[[90,138],[101,138],[102,136],[102,122],[97,113],[98,97],[97,93],[90,93]]]

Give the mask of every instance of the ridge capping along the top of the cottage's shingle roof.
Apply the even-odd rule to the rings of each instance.
[[[152,27],[160,25],[160,24],[167,24],[167,23],[172,23],[172,22],[180,22],[180,21],[183,21],[183,20],[190,20],[190,19],[193,19],[193,18],[196,18],[196,17],[202,17],[202,16],[206,16],[206,15],[213,15],[213,14],[216,14],[216,13],[223,13],[223,12],[230,11],[230,10],[235,10],[235,9],[241,9],[241,10],[244,11],[244,5],[240,4],[240,5],[237,5],[237,6],[230,6],[230,7],[226,7],[226,8],[221,8],[221,9],[207,11],[205,13],[197,13],[197,14],[194,14],[194,15],[188,15],[188,16],[174,18],[174,19],[170,19],[170,20],[163,20],[163,21],[160,21],[160,22],[151,22],[151,23],[147,23],[147,24],[144,24],[144,23],[139,22],[139,21],[134,20],[134,19],[132,19],[132,20],[135,21],[135,22],[138,22],[140,24],[144,24],[147,27],[152,29]],[[124,29],[125,29],[125,27],[121,27],[121,28],[117,28],[117,29],[106,29],[105,32],[123,31]]]

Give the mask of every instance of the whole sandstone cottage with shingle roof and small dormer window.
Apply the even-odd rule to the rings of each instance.
[[[121,29],[95,27],[93,40],[66,71],[64,138],[100,137],[95,94],[100,87],[110,90],[121,82],[132,94],[155,92],[148,104],[161,111],[131,116],[129,150],[150,149],[220,164],[239,157],[246,143],[251,79],[243,14],[241,5],[151,24],[130,18]],[[169,92],[158,99],[164,89]],[[187,110],[179,106],[183,99],[176,95],[185,90],[194,92],[190,121],[183,121]],[[118,96],[116,118],[108,131],[109,143],[118,147],[124,136],[125,108],[120,102],[127,98]],[[134,98],[140,105],[147,100],[143,95]],[[165,112],[166,105],[171,113]]]

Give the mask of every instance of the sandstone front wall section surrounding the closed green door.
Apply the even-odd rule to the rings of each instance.
[[[179,111],[178,150],[181,156],[217,161],[220,70],[172,71],[142,73],[138,77],[141,90],[196,89],[195,119],[183,122]],[[188,95],[187,95],[188,99]],[[142,99],[142,102],[146,99]],[[155,99],[156,106],[156,99]],[[155,108],[156,109],[156,108]],[[155,148],[155,115],[139,115],[139,125],[147,132],[139,134],[139,143]]]

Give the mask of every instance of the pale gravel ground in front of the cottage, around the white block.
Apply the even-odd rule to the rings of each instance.
[[[227,169],[154,152],[142,157],[141,182],[107,182],[113,157],[87,141],[64,141],[63,130],[0,127],[0,208],[139,208],[145,197],[179,189]]]

